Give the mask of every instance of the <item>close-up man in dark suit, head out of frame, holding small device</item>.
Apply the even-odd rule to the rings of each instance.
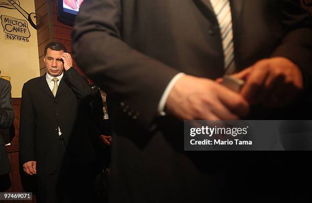
[[[241,119],[250,106],[253,118],[270,118],[253,106],[293,103],[310,83],[307,22],[286,0],[85,1],[73,50],[114,100],[112,199],[214,202],[228,191],[223,177],[239,164],[185,152],[182,121]],[[215,81],[235,72],[241,93]]]

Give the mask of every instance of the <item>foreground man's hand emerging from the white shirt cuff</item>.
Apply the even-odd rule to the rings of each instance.
[[[167,110],[183,120],[238,120],[249,111],[247,101],[221,84],[184,75],[173,86]]]

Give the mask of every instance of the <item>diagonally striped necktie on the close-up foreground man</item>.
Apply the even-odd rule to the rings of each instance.
[[[225,74],[235,72],[232,17],[229,0],[210,0],[220,27]]]

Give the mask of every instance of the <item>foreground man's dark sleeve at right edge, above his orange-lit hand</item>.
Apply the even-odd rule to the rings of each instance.
[[[312,79],[312,16],[299,1],[281,1],[284,36],[272,56],[287,57],[301,69],[305,88],[311,88]]]

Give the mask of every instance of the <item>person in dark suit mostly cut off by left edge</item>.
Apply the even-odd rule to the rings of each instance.
[[[10,187],[8,176],[10,162],[5,144],[9,143],[13,138],[10,133],[13,120],[14,111],[11,105],[11,84],[9,81],[0,78],[0,191],[4,191]]]

